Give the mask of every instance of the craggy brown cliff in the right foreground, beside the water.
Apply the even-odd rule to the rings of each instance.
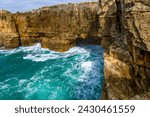
[[[100,0],[108,99],[150,98],[149,0]]]

